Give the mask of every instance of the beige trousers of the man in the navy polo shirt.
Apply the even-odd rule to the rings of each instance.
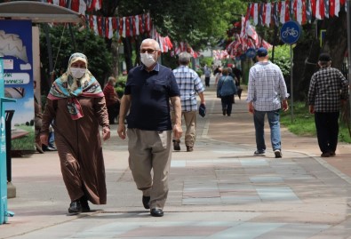
[[[129,167],[133,179],[150,196],[150,208],[164,208],[171,167],[172,131],[128,129]]]

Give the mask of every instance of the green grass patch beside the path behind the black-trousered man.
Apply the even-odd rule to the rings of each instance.
[[[282,111],[281,123],[296,135],[316,137],[315,116],[309,114],[308,106],[304,102],[294,102],[293,116],[291,109],[287,112]],[[339,123],[339,141],[351,143],[347,123],[342,121]]]

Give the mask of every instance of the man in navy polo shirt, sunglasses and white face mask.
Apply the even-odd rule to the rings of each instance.
[[[160,46],[153,39],[140,45],[142,65],[128,74],[121,100],[118,135],[128,135],[129,166],[142,191],[142,203],[153,217],[164,216],[172,157],[172,130],[181,137],[180,92],[172,70],[157,62]],[[171,105],[175,114],[172,127]],[[128,131],[125,129],[126,114]]]

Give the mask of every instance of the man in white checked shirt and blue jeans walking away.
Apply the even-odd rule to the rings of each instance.
[[[249,112],[253,114],[256,132],[256,147],[254,155],[266,153],[264,135],[265,116],[267,115],[271,134],[271,144],[275,157],[282,157],[280,133],[280,109],[288,110],[289,94],[286,89],[282,70],[268,60],[267,49],[261,47],[257,51],[258,62],[250,68],[248,95]]]

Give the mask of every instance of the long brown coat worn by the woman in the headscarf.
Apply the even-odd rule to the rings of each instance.
[[[78,120],[71,119],[66,99],[47,99],[42,133],[49,133],[49,125],[54,120],[52,127],[62,177],[71,201],[85,194],[94,204],[106,204],[105,166],[99,128],[99,125],[108,126],[105,98],[77,99],[84,113],[84,117]]]

